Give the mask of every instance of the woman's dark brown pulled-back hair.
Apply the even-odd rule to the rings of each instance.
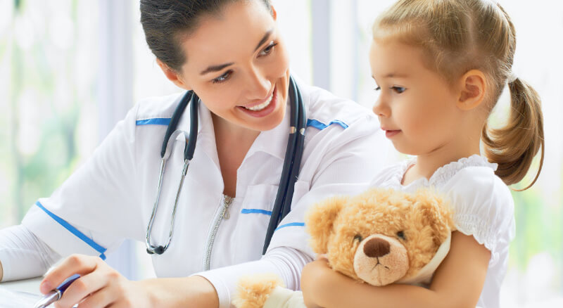
[[[238,1],[261,1],[272,13],[270,0],[141,0],[146,44],[156,58],[179,72],[186,62],[182,37],[197,29],[201,17],[218,15],[224,6]]]

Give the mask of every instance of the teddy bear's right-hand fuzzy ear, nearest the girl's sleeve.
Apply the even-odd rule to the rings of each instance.
[[[432,228],[437,245],[450,236],[454,224],[450,203],[440,194],[428,189],[421,189],[415,195],[417,211],[424,214],[426,225]]]

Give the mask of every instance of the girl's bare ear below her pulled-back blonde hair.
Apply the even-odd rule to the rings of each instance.
[[[481,105],[485,99],[487,79],[481,70],[470,70],[460,79],[460,98],[457,108],[472,110]]]

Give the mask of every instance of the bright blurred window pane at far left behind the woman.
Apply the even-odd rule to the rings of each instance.
[[[18,224],[98,144],[98,10],[0,1],[0,226]]]

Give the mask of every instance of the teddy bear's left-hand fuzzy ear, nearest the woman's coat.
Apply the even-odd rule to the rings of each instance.
[[[305,216],[305,226],[310,237],[310,245],[314,252],[326,254],[330,235],[334,229],[334,221],[339,216],[347,197],[331,197],[312,205]]]

